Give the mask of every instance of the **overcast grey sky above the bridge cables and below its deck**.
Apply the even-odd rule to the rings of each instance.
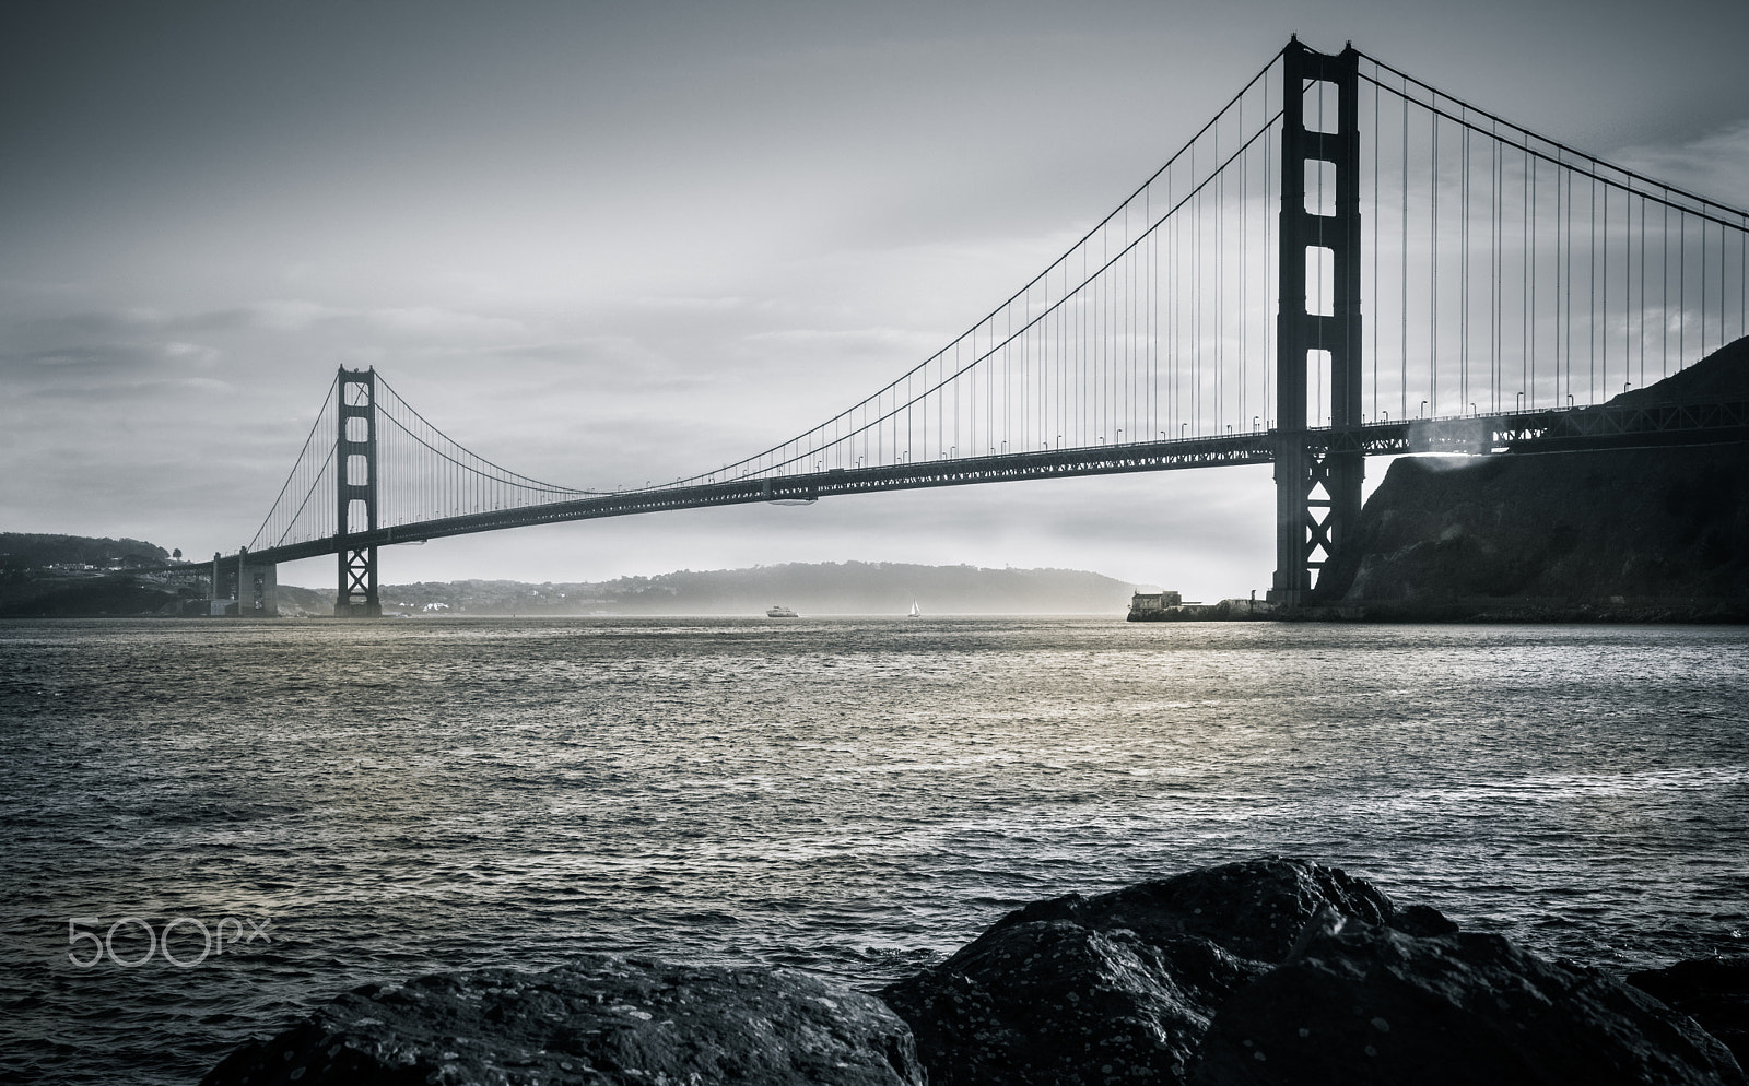
[[[1042,269],[1289,31],[1749,203],[1740,2],[9,10],[0,530],[189,554],[250,539],[341,364],[575,486],[791,437]],[[1270,472],[498,532],[388,549],[383,579],[843,560],[1261,591]]]

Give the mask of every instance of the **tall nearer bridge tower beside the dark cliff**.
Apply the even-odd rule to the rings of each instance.
[[[1359,451],[1312,448],[1307,432],[1307,371],[1312,352],[1329,367],[1329,425],[1361,423],[1361,133],[1359,58],[1313,52],[1298,37],[1282,54],[1280,311],[1277,313],[1275,586],[1270,600],[1305,603],[1313,570],[1343,544],[1361,516],[1366,458]],[[1322,124],[1307,128],[1307,98],[1336,100]],[[1315,117],[1313,117],[1315,119]],[[1307,182],[1307,175],[1315,178]],[[1329,191],[1334,203],[1308,206]],[[1326,213],[1331,212],[1331,213]],[[1327,250],[1327,257],[1324,255]],[[1333,259],[1331,259],[1333,257]],[[1327,311],[1308,311],[1307,268],[1331,261]],[[1324,310],[1324,306],[1319,306]],[[1322,421],[1322,420],[1310,420]]]

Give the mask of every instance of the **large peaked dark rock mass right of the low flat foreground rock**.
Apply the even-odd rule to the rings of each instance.
[[[937,1086],[1749,1086],[1644,992],[1280,857],[1027,906],[881,995]]]

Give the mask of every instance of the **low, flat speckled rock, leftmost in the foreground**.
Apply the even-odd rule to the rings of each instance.
[[[203,1079],[922,1086],[880,1000],[794,971],[589,955],[547,972],[439,974],[341,995]]]

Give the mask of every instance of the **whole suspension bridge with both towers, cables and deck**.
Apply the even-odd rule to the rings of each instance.
[[[1273,463],[1270,598],[1313,598],[1366,456],[1749,441],[1740,397],[1618,397],[1746,334],[1749,213],[1355,51],[1289,42],[1020,290],[817,427],[673,483],[586,490],[446,437],[341,369],[248,547],[338,556],[374,616],[392,544],[638,512]],[[1364,304],[1362,304],[1364,303]]]

